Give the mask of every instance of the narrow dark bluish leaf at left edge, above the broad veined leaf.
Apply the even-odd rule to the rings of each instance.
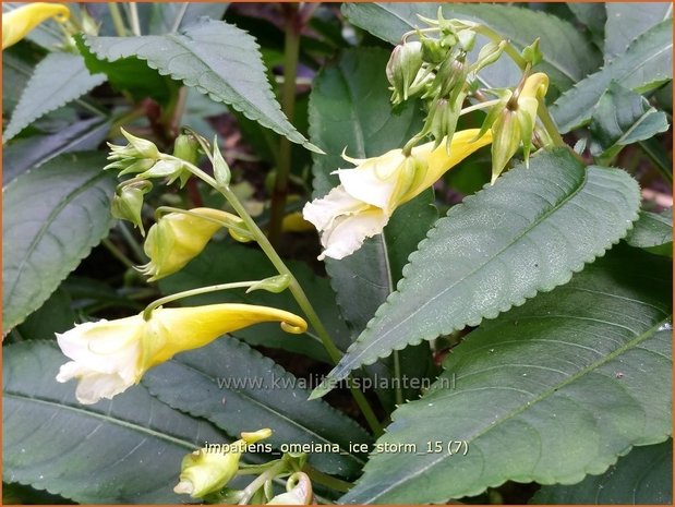
[[[64,153],[96,149],[108,135],[110,119],[94,117],[53,134],[14,140],[2,149],[2,185]]]

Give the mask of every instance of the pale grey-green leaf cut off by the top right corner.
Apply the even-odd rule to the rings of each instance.
[[[671,2],[626,2],[605,4],[605,63],[623,53],[636,38],[673,15]]]

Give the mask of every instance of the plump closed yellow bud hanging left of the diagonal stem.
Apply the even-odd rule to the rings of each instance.
[[[141,266],[141,273],[154,281],[182,269],[226,224],[245,227],[241,218],[219,209],[194,208],[164,215],[147,233],[143,249],[150,261]],[[230,234],[239,241],[249,240],[232,230]]]

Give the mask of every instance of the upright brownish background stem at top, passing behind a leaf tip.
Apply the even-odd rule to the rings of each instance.
[[[293,122],[296,109],[296,76],[298,74],[298,58],[300,56],[300,26],[298,8],[292,4],[286,5],[286,40],[284,44],[284,87],[281,90],[281,110]],[[286,197],[288,195],[288,178],[291,168],[291,142],[286,136],[279,138],[279,159],[272,193],[269,209],[269,227],[267,236],[273,245],[279,244],[281,237],[281,224],[286,210]]]

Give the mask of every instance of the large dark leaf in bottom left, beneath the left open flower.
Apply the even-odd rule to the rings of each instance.
[[[136,386],[82,406],[56,375],[68,359],[56,343],[3,348],[3,480],[81,504],[179,504],[172,492],[184,455],[231,442]]]

